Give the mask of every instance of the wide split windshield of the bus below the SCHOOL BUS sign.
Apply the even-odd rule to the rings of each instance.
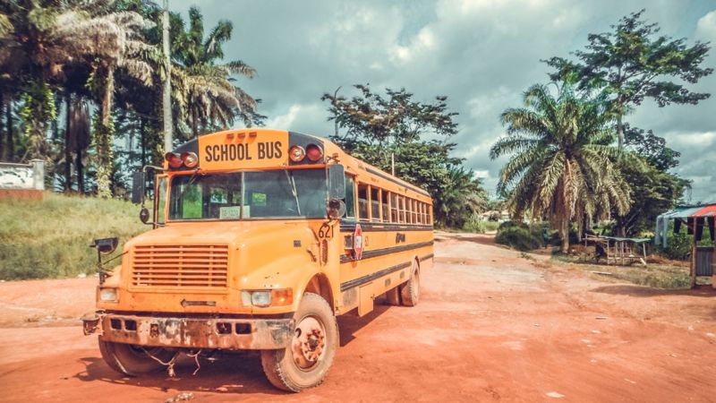
[[[175,176],[169,219],[322,219],[326,170]]]

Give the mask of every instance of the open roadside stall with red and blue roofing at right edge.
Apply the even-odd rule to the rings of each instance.
[[[686,226],[688,235],[693,236],[691,243],[690,275],[691,287],[696,285],[696,277],[712,276],[712,287],[716,288],[716,203],[700,206],[678,207],[669,210],[656,219],[654,243],[666,247],[669,242],[669,221],[674,220],[674,232]],[[711,246],[698,246],[708,228]]]

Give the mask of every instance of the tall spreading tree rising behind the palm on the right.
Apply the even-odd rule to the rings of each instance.
[[[574,53],[577,62],[552,57],[552,81],[576,78],[582,89],[609,94],[617,115],[618,145],[624,145],[624,116],[649,97],[660,107],[671,103],[696,104],[710,94],[688,90],[681,82],[696,83],[713,69],[702,67],[709,44],[686,45],[686,39],[659,35],[656,23],[643,18],[644,10],[630,13],[612,25],[612,32],[590,34],[586,50]],[[678,81],[669,81],[678,79]]]

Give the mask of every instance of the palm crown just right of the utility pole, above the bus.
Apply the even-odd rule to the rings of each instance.
[[[174,56],[179,68],[173,67],[172,79],[183,92],[187,111],[187,124],[192,135],[199,134],[199,126],[220,126],[234,124],[239,116],[244,123],[251,124],[257,101],[241,88],[234,85],[232,74],[252,78],[256,70],[242,61],[217,64],[224,58],[224,45],[231,39],[231,21],[218,21],[209,36],[204,39],[203,17],[196,7],[189,9],[189,30],[175,39]],[[175,72],[176,71],[176,72]]]

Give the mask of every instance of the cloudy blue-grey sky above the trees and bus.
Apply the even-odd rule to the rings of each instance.
[[[447,95],[459,113],[457,156],[494,193],[499,167],[490,145],[504,133],[499,114],[521,93],[546,82],[540,59],[568,56],[589,33],[609,30],[627,13],[676,38],[716,45],[716,0],[170,0],[186,15],[199,6],[207,30],[234,22],[226,60],[243,60],[259,75],[238,85],[262,99],[268,127],[328,135],[324,92],[355,83],[404,87],[416,99]],[[706,62],[716,67],[716,50]],[[716,94],[716,74],[691,87]],[[716,95],[697,106],[656,107],[646,100],[628,122],[665,137],[681,152],[678,174],[694,181],[691,201],[716,201]]]

